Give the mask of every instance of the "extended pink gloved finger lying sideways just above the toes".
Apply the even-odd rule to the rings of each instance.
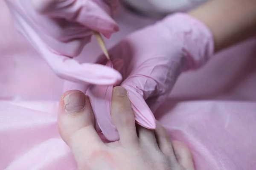
[[[55,73],[64,79],[84,84],[114,85],[122,80],[118,71],[104,65],[83,63],[66,57],[45,57]]]

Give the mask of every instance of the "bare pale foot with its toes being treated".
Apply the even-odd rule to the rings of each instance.
[[[156,130],[135,125],[134,112],[126,94],[121,87],[113,90],[111,117],[120,139],[107,144],[94,129],[95,119],[88,97],[77,90],[67,91],[62,96],[58,128],[72,150],[78,169],[194,170],[188,147],[182,142],[171,142],[159,122]],[[79,106],[83,102],[84,107]],[[70,112],[72,105],[76,111]]]

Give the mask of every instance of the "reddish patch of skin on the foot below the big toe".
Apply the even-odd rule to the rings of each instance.
[[[116,169],[116,167],[117,167],[114,156],[105,150],[94,151],[90,156],[89,163],[91,163],[93,165],[101,164],[105,168],[107,166],[107,168],[109,167],[109,170]]]

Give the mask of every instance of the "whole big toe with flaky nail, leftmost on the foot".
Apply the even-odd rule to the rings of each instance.
[[[94,129],[94,123],[87,96],[76,90],[65,92],[59,103],[58,129],[78,164],[87,161],[95,150],[105,146]]]

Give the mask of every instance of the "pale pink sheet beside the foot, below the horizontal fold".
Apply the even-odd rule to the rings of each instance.
[[[58,134],[56,108],[57,102],[0,102],[0,169],[76,170]],[[256,102],[167,100],[157,119],[189,146],[196,170],[254,170],[255,111]]]

